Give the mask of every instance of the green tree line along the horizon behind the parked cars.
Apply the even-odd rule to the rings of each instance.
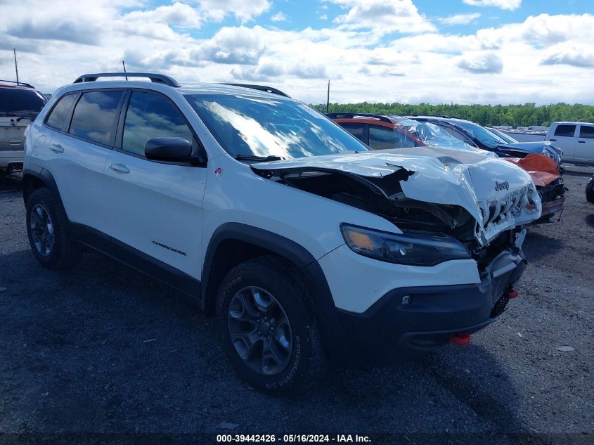
[[[325,111],[325,104],[313,105],[318,110]],[[485,126],[510,125],[512,127],[529,127],[530,125],[544,125],[551,122],[576,121],[594,122],[594,106],[576,103],[555,103],[539,105],[524,103],[524,105],[460,105],[457,103],[441,103],[430,105],[419,103],[330,103],[330,112],[369,112],[390,115],[447,115],[471,120]]]

